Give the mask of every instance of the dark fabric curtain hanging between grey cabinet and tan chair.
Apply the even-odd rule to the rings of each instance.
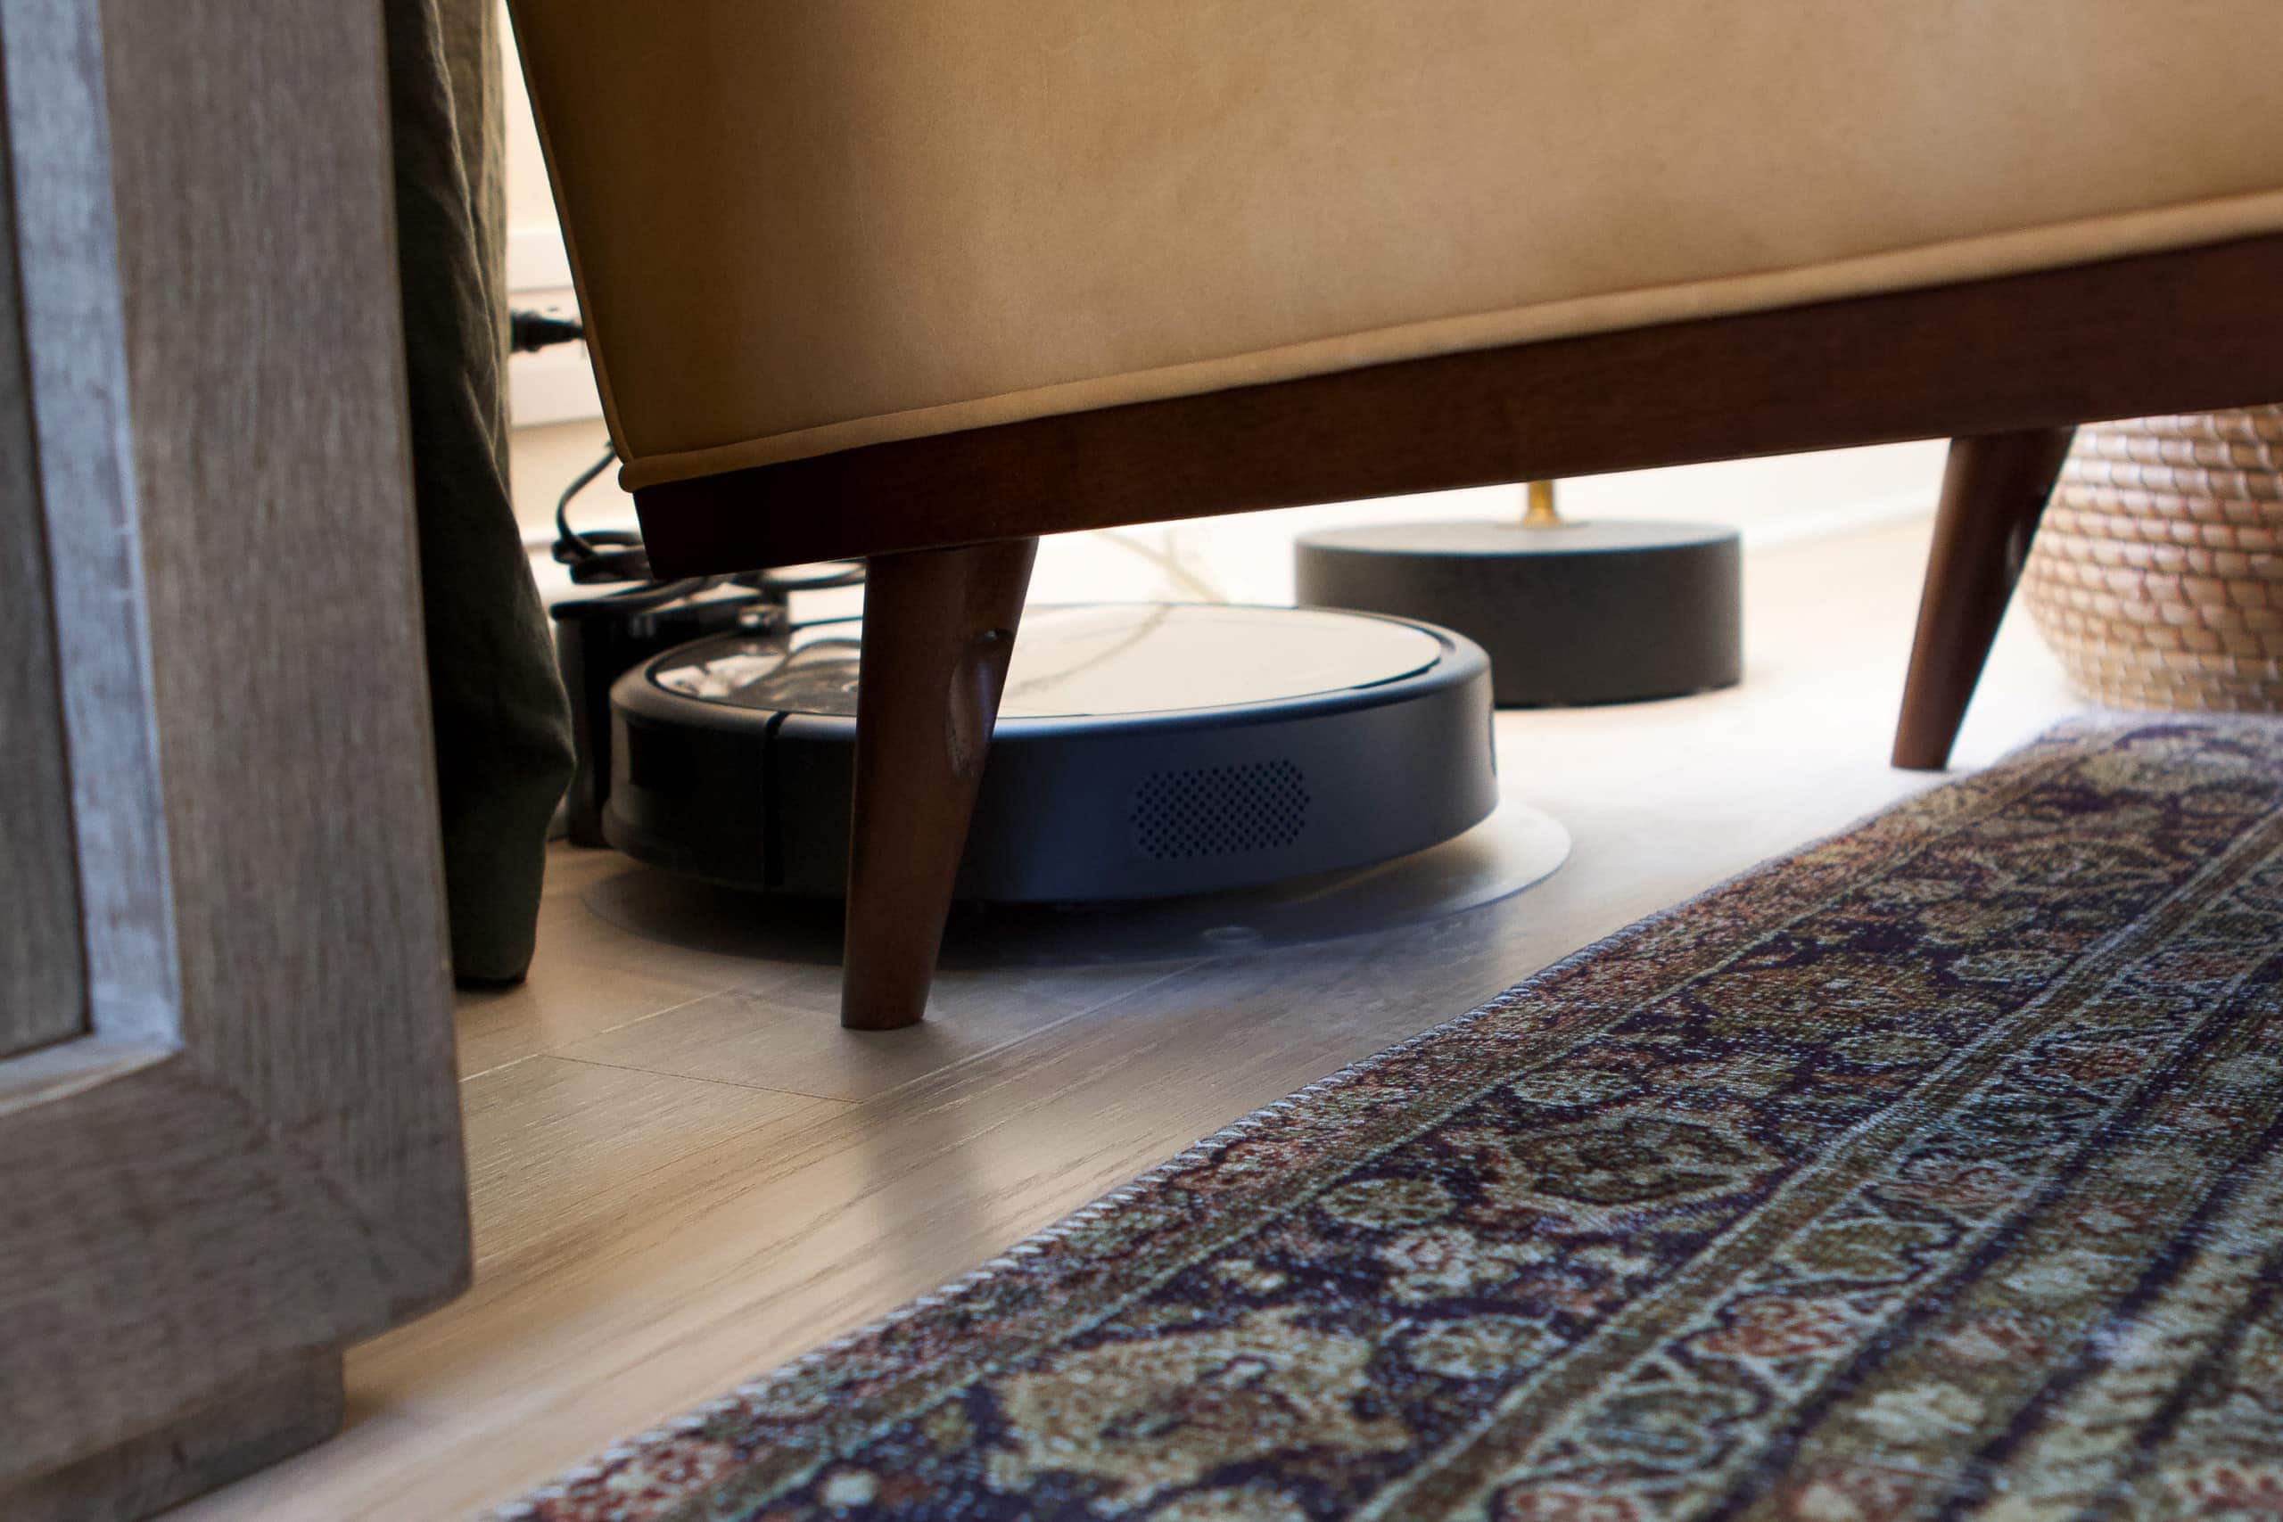
[[[381,9],[452,968],[507,983],[532,961],[571,712],[507,493],[498,7]]]

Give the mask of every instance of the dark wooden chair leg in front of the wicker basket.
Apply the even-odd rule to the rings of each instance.
[[[1895,726],[1897,767],[1941,771],[1950,764],[1966,703],[1982,680],[2073,434],[2023,429],[1950,440],[1902,723]]]

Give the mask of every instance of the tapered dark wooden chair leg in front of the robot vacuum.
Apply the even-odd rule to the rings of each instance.
[[[927,1011],[1036,539],[874,557],[856,685],[840,1025]]]

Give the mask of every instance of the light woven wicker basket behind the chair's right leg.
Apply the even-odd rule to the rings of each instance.
[[[2078,429],[2020,589],[2098,703],[2283,712],[2283,406]]]

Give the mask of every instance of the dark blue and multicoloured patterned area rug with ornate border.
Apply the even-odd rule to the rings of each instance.
[[[2278,1517],[2283,730],[2062,730],[502,1515]]]

